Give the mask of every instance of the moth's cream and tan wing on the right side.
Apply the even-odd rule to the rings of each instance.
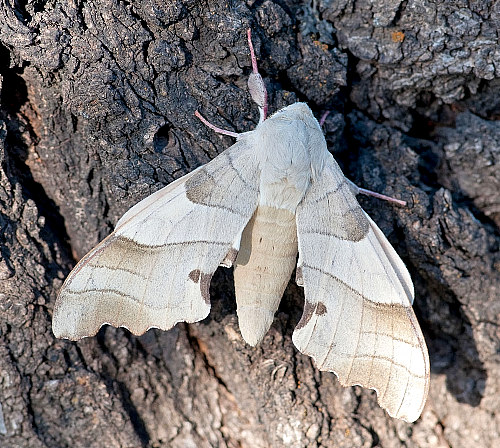
[[[297,209],[297,233],[305,307],[295,346],[343,386],[375,389],[392,417],[415,421],[429,356],[413,284],[333,158]]]

